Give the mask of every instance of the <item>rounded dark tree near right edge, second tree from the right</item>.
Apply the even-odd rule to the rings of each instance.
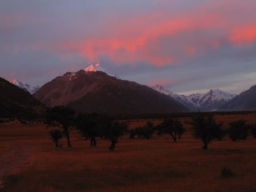
[[[246,124],[245,120],[236,120],[229,123],[229,128],[227,129],[227,134],[233,142],[239,139],[246,139],[249,135],[250,126]]]

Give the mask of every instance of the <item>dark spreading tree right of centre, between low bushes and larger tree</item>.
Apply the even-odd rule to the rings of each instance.
[[[159,126],[157,126],[158,134],[170,134],[174,142],[177,139],[181,139],[181,135],[184,134],[186,129],[182,123],[176,118],[165,118]]]

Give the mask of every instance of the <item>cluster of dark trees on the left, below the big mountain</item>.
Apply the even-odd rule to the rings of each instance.
[[[50,138],[56,147],[60,147],[59,140],[62,137],[67,139],[67,146],[72,147],[70,142],[70,131],[76,129],[83,139],[90,139],[91,146],[97,146],[97,137],[109,139],[109,149],[113,151],[118,138],[127,132],[128,124],[119,122],[106,115],[99,114],[78,114],[68,107],[58,106],[49,108],[45,118]]]

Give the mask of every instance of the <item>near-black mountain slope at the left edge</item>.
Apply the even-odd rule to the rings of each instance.
[[[31,94],[0,77],[0,118],[35,118],[44,106]]]

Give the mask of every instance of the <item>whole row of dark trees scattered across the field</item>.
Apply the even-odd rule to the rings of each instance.
[[[128,129],[128,123],[115,120],[107,115],[99,114],[75,114],[68,107],[48,108],[45,123],[49,131],[50,139],[56,147],[61,147],[59,140],[67,139],[67,146],[72,147],[70,131],[77,130],[83,139],[89,139],[91,146],[97,146],[97,137],[110,140],[111,151],[115,150],[119,137],[129,133],[130,139],[151,139],[154,133],[158,135],[170,135],[173,142],[178,142],[186,129],[178,118],[164,118],[157,126],[147,121],[145,126]],[[202,148],[208,149],[208,145],[214,140],[222,140],[226,135],[234,142],[246,139],[249,134],[256,138],[256,124],[247,124],[245,120],[236,120],[229,123],[229,128],[222,128],[222,123],[217,123],[212,115],[197,115],[189,122],[193,135],[203,142]]]

